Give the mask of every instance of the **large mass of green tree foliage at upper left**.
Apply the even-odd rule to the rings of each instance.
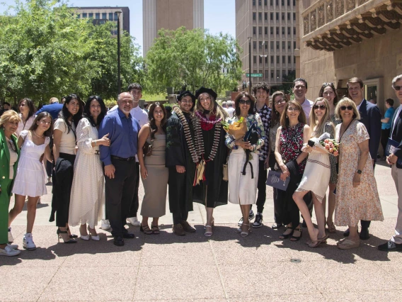
[[[16,1],[15,16],[0,16],[0,99],[77,93],[104,99],[117,95],[117,39],[114,23],[93,26],[57,1]],[[122,90],[143,79],[134,39],[121,37]]]

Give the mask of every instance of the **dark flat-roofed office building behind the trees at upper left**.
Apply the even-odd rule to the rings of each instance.
[[[120,28],[130,33],[130,9],[120,6],[90,6],[90,7],[74,7],[77,18],[92,19],[93,24],[103,24],[106,21],[115,21],[117,24],[117,13],[120,14]],[[117,35],[117,26],[112,30],[113,35]]]

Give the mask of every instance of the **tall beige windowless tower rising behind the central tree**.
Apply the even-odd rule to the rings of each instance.
[[[142,0],[142,20],[145,57],[161,28],[204,28],[204,0]]]

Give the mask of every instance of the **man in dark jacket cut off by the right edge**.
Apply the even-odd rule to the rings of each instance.
[[[398,218],[396,219],[395,235],[388,242],[378,246],[379,250],[385,252],[402,251],[402,164],[397,163],[398,160],[402,160],[402,74],[394,77],[392,88],[394,88],[401,105],[396,109],[392,119],[391,139],[398,142],[399,145],[386,157],[386,162],[391,164],[391,175],[398,192]]]

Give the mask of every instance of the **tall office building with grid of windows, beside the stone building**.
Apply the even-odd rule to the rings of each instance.
[[[280,85],[283,77],[296,70],[296,0],[236,0],[236,39],[243,50],[243,80]],[[251,67],[249,66],[251,41]]]

